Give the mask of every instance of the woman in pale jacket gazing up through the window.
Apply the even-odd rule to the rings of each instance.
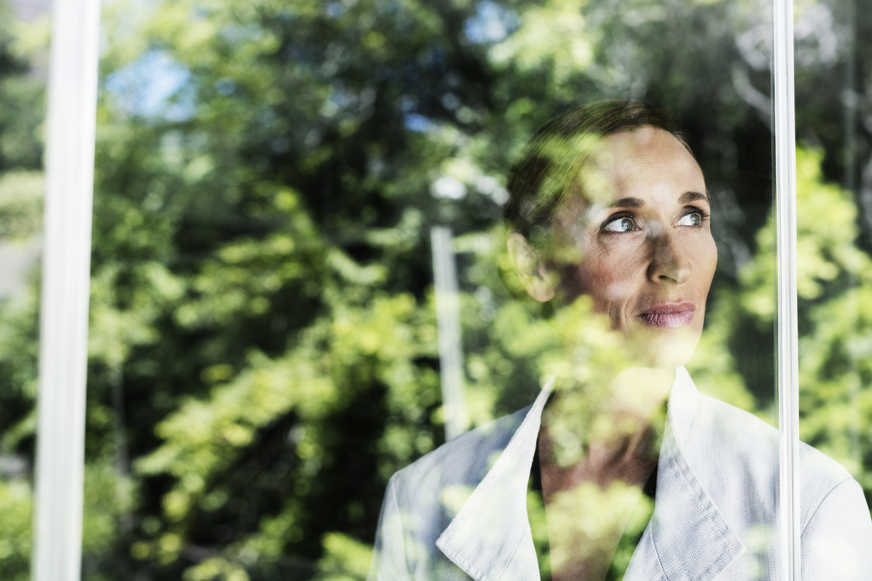
[[[705,180],[672,118],[634,101],[555,118],[509,192],[508,253],[527,294],[555,303],[563,364],[528,409],[392,477],[370,578],[530,580],[540,563],[561,581],[776,578],[777,431],[700,395],[683,367],[717,249]],[[872,578],[860,486],[805,445],[800,480],[802,578]]]

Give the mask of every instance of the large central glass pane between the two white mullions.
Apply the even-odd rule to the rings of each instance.
[[[449,541],[523,542],[534,577],[774,578],[769,14],[106,5],[85,578],[365,578],[380,514],[389,578],[480,574]],[[582,105],[648,120],[527,145]],[[476,498],[511,506],[450,529]]]

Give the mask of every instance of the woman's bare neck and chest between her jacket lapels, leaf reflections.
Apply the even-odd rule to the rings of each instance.
[[[674,370],[625,369],[606,386],[558,390],[539,458],[555,581],[605,578],[657,468]]]

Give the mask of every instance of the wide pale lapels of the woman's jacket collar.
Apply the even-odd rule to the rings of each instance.
[[[494,467],[436,541],[439,550],[476,581],[539,578],[527,487],[552,385],[553,380],[542,388]],[[657,468],[655,510],[624,576],[627,581],[711,579],[745,550],[682,453],[699,398],[687,370],[678,368]]]

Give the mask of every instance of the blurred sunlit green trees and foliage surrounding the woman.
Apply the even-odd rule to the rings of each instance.
[[[0,578],[25,579],[50,23],[3,2]],[[869,497],[872,10],[795,10],[801,436]],[[768,18],[756,0],[105,3],[84,578],[364,578],[387,479],[444,441],[430,227],[457,235],[480,425],[531,400],[556,341],[501,281],[508,166],[598,98],[682,119],[719,242],[689,368],[772,421]]]

